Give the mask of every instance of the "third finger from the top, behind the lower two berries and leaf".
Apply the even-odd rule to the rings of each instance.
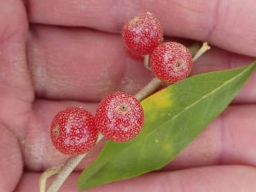
[[[29,170],[42,171],[65,161],[51,143],[49,125],[54,114],[67,106],[82,106],[94,112],[96,104],[37,101],[23,139],[24,162]],[[179,169],[212,164],[247,164],[256,166],[256,105],[228,107],[200,136],[165,169]],[[246,148],[246,150],[244,150]],[[235,150],[234,150],[235,149]],[[92,162],[100,149],[85,158],[78,170]]]

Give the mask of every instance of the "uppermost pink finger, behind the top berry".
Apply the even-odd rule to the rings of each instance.
[[[154,12],[166,35],[207,40],[211,44],[256,56],[256,1],[63,1],[27,0],[32,22],[87,26],[120,33],[129,17]],[[63,17],[65,15],[65,17]]]

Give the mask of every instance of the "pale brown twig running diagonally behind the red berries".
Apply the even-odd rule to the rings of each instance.
[[[194,55],[193,61],[200,58],[203,53],[205,53],[207,50],[210,49],[210,46],[207,44],[207,42],[203,43],[203,46],[200,47],[199,51]],[[162,84],[162,81],[158,78],[153,78],[151,82],[148,82],[148,84],[141,89],[137,94],[135,94],[135,98],[137,98],[139,101],[142,101],[144,98],[146,98],[148,95],[151,95],[159,85]],[[96,143],[99,143],[103,136],[100,134],[98,141]],[[54,168],[50,168],[46,170],[44,173],[42,173],[40,177],[40,192],[45,189],[46,180],[48,177],[51,177],[51,175],[58,174],[53,180],[52,184],[47,189],[47,192],[56,192],[58,189],[60,189],[60,186],[67,180],[67,177],[71,174],[71,172],[76,168],[76,166],[82,161],[82,159],[87,155],[87,153],[83,155],[78,155],[74,157],[70,157],[67,159],[67,162],[63,166],[56,167],[56,171],[52,171]],[[51,173],[47,173],[51,171]]]

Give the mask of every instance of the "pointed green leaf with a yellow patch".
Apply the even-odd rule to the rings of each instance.
[[[78,189],[89,189],[167,165],[232,101],[256,67],[203,73],[142,101],[142,132],[127,143],[108,143],[83,171]]]

